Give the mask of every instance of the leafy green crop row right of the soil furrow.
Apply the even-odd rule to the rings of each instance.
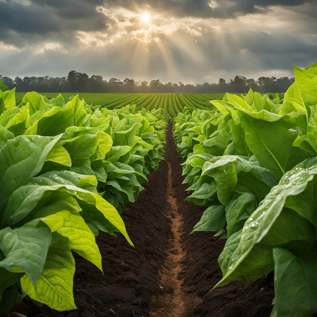
[[[274,270],[272,317],[317,311],[317,63],[294,73],[285,95],[226,94],[173,127],[186,199],[208,206],[193,231],[228,238],[214,288]]]

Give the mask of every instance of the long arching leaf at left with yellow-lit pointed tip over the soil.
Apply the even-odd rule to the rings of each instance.
[[[23,222],[25,217],[37,211],[38,204],[42,207],[43,202],[49,199],[54,191],[68,192],[79,203],[85,204],[86,219],[92,217],[93,220],[104,223],[105,227],[109,225],[109,232],[121,232],[133,245],[118,211],[101,196],[88,191],[95,190],[96,181],[95,176],[79,175],[70,171],[53,171],[34,177],[10,196],[3,214],[3,221],[8,225]],[[25,222],[30,220],[25,219],[27,219]]]

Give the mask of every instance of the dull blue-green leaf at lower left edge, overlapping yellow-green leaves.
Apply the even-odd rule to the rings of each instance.
[[[52,236],[49,228],[7,227],[0,230],[0,249],[6,256],[0,262],[11,272],[29,275],[32,283],[42,273]]]

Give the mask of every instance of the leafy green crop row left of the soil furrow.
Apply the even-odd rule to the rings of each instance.
[[[120,213],[163,159],[164,111],[36,92],[16,105],[0,82],[0,112],[0,312],[26,294],[75,309],[71,250],[102,272],[100,230],[133,246]]]

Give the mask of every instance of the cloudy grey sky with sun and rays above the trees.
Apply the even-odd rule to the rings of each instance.
[[[317,61],[317,0],[0,0],[0,74],[217,82]]]

